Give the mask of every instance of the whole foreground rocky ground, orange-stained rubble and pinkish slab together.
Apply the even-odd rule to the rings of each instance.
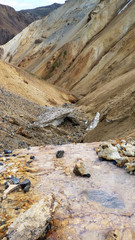
[[[135,239],[134,176],[100,161],[95,149],[99,144],[35,147],[3,155],[0,194],[11,175],[29,179],[31,187],[26,193],[9,193],[0,203],[0,237],[38,239],[44,231],[47,240]],[[58,151],[64,151],[61,158]],[[75,166],[91,176],[75,175]]]

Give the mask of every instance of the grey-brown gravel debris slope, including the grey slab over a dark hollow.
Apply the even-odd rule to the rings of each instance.
[[[2,89],[0,112],[0,151],[81,142],[86,133],[88,119],[74,104],[64,104],[57,110]],[[54,122],[61,124],[54,126]]]

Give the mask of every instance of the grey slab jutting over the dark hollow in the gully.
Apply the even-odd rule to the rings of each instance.
[[[38,117],[39,121],[35,122],[35,126],[59,126],[64,119],[73,112],[71,108],[62,107],[44,107],[45,112]]]

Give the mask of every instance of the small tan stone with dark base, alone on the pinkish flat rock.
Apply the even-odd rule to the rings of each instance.
[[[82,161],[77,162],[77,164],[74,167],[73,172],[76,176],[82,176],[82,177],[87,177],[87,178],[90,178],[90,176],[91,176],[88,168],[85,166],[85,164]]]

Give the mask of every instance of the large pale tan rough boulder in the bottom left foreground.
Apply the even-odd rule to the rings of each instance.
[[[54,211],[53,196],[35,203],[18,217],[8,229],[9,240],[36,240],[47,229]]]

